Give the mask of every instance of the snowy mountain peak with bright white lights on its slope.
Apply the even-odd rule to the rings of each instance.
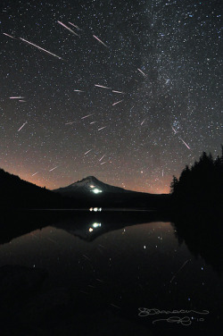
[[[94,176],[87,176],[85,179],[70,184],[68,187],[54,189],[54,192],[59,192],[62,195],[74,196],[78,193],[83,194],[100,194],[106,193],[123,193],[128,192],[126,189],[114,187],[109,184],[97,180]]]

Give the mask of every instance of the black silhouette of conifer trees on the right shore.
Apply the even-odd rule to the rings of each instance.
[[[221,156],[213,159],[211,153],[202,153],[200,160],[191,168],[181,172],[179,178],[173,176],[170,194],[178,208],[220,209],[223,190],[223,146]]]

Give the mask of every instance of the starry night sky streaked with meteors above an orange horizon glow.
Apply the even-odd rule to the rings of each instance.
[[[49,189],[94,175],[162,193],[203,150],[220,154],[221,0],[1,0],[0,10],[5,171]]]

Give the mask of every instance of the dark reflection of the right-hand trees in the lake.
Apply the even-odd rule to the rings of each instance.
[[[217,273],[223,271],[223,227],[218,215],[197,214],[175,219],[174,228],[179,244],[185,241],[194,256],[202,256]]]

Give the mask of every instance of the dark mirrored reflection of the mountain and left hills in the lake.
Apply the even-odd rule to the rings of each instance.
[[[54,226],[87,241],[105,232],[120,230],[139,223],[169,221],[164,214],[147,211],[18,211],[2,213],[0,244],[7,243],[31,231]],[[18,224],[20,223],[20,224]]]

